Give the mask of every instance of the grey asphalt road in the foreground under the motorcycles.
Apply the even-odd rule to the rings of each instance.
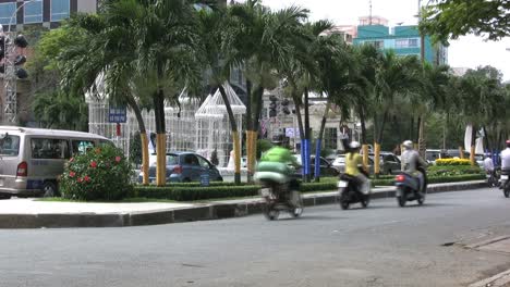
[[[510,269],[510,257],[461,244],[502,234],[510,199],[496,189],[276,222],[0,230],[0,286],[467,286]]]

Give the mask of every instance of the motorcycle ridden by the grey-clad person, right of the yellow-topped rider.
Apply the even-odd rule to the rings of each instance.
[[[400,173],[394,177],[397,201],[401,208],[405,207],[408,201],[417,200],[420,205],[425,202],[425,197],[427,196],[426,172],[424,169],[418,169],[418,172],[421,172],[424,177],[423,190],[420,188],[418,178],[409,173]]]

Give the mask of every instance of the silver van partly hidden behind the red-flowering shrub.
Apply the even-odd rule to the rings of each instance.
[[[65,162],[109,139],[82,132],[0,126],[0,199],[54,196]]]

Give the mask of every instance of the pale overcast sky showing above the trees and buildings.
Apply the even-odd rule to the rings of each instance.
[[[300,5],[311,11],[311,20],[328,18],[338,25],[357,25],[357,18],[369,13],[369,0],[263,0],[263,3],[272,10]],[[372,0],[373,15],[386,17],[390,26],[416,24],[417,7],[417,0]],[[472,68],[491,65],[503,73],[505,80],[510,80],[510,52],[506,48],[510,48],[510,38],[495,42],[462,37],[451,41],[448,63],[452,67]]]

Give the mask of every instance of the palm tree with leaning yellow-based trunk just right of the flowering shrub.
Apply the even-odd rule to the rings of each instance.
[[[76,16],[61,29],[80,35],[74,41],[66,42],[60,59],[63,88],[70,92],[84,93],[88,90],[97,95],[98,79],[104,82],[105,91],[112,104],[129,105],[134,112],[142,140],[143,184],[148,185],[148,138],[139,108],[139,93],[134,88],[133,77],[136,47],[124,37],[134,37],[133,29],[111,16],[116,7],[107,7],[98,15]],[[105,49],[106,48],[106,49]]]

